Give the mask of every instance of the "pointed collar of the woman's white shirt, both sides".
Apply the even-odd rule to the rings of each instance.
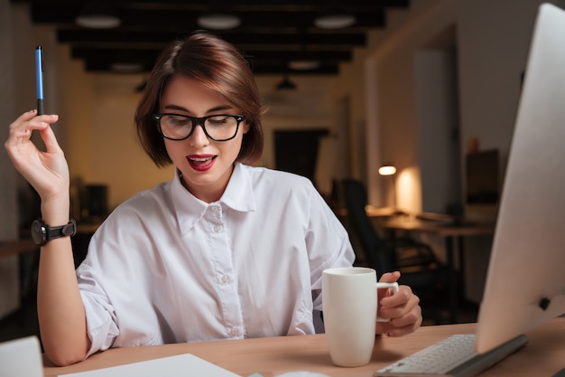
[[[227,183],[226,191],[219,199],[219,203],[238,212],[255,211],[253,184],[251,184],[251,176],[247,169],[247,166],[236,163]],[[204,216],[208,206],[213,204],[205,203],[192,195],[182,185],[181,172],[178,170],[175,170],[175,176],[171,185],[171,195],[181,230],[192,228]]]

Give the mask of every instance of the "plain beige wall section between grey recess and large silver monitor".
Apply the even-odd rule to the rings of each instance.
[[[481,148],[499,148],[504,169],[514,130],[521,75],[537,7],[542,1],[515,1],[512,6],[502,0],[460,3],[462,140],[477,137]],[[479,22],[482,27],[477,28]]]

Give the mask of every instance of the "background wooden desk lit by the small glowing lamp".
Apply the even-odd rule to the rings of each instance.
[[[410,216],[398,216],[392,219],[375,219],[374,225],[389,231],[416,231],[442,237],[445,240],[446,262],[449,269],[449,320],[457,323],[458,297],[464,296],[464,292],[459,294],[458,286],[463,287],[463,237],[492,235],[495,233],[494,223],[461,223],[453,224],[447,221],[427,221],[419,220]],[[393,233],[394,237],[394,233]],[[461,278],[457,277],[457,266],[455,262],[455,250],[458,250],[458,267]],[[459,280],[461,282],[459,282]]]

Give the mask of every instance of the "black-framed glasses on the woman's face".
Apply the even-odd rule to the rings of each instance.
[[[227,141],[236,137],[243,115],[215,114],[194,118],[181,114],[153,114],[162,137],[170,140],[184,140],[194,132],[198,125],[204,134],[214,141]]]

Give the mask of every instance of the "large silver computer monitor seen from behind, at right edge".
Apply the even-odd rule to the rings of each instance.
[[[564,41],[565,12],[541,5],[477,319],[479,353],[565,313]]]

